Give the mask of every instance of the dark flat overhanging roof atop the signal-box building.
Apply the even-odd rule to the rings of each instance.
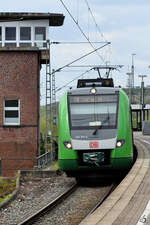
[[[62,26],[64,15],[56,13],[0,12],[0,22],[44,19],[49,20],[49,26]]]

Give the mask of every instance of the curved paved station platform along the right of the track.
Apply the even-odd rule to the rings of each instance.
[[[80,225],[150,224],[150,136],[134,134],[138,158],[119,186]]]

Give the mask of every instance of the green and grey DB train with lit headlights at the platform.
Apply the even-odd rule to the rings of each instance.
[[[112,78],[79,79],[58,109],[58,163],[70,177],[122,176],[133,165],[129,99]]]

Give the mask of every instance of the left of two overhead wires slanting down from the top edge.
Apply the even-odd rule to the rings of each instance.
[[[79,23],[74,19],[73,15],[71,14],[71,12],[69,11],[69,9],[67,8],[67,6],[65,5],[65,3],[60,0],[60,2],[62,3],[62,5],[64,6],[64,8],[66,9],[66,11],[68,12],[68,14],[70,15],[70,17],[72,18],[72,20],[74,21],[74,23],[77,25],[77,27],[79,28],[80,32],[82,33],[82,35],[86,38],[86,40],[89,42],[89,44],[91,45],[91,47],[95,50],[94,46],[92,45],[92,43],[90,42],[89,38],[86,36],[86,34],[84,33],[84,31],[82,30],[82,28],[80,27]],[[103,61],[103,63],[105,63],[105,60],[103,59],[103,57],[97,52],[97,55],[101,58],[101,60]]]

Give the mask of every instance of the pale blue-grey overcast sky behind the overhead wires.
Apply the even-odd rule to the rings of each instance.
[[[127,84],[126,73],[131,68],[131,56],[134,56],[135,63],[135,85],[140,85],[138,74],[146,74],[145,85],[150,85],[150,1],[149,0],[88,0],[90,9],[102,34],[96,30],[96,26],[85,0],[63,0],[69,11],[80,27],[91,41],[111,42],[111,46],[99,50],[104,61],[109,64],[124,65],[120,72],[114,72],[115,84],[123,87]],[[1,12],[50,12],[62,13],[65,16],[64,25],[61,27],[50,27],[51,41],[86,41],[75,23],[68,15],[60,0],[5,0],[1,2]],[[96,44],[100,47],[102,44]],[[51,47],[52,68],[58,69],[65,64],[77,59],[83,54],[91,51],[88,44],[62,44]],[[100,65],[104,62],[97,54],[76,62],[74,65]],[[78,68],[76,72],[64,69],[56,74],[56,86],[61,87],[74,77],[80,75],[88,68]],[[74,70],[71,68],[71,70]],[[42,70],[42,74],[44,69]],[[86,77],[97,77],[95,72],[89,73]],[[44,87],[44,74],[42,75]],[[70,84],[75,86],[76,82]],[[57,95],[60,96],[65,89]],[[43,91],[44,96],[44,91]]]

